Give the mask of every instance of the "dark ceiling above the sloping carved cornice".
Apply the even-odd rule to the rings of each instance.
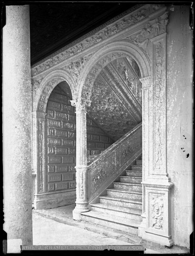
[[[101,26],[136,3],[31,2],[31,65]]]

